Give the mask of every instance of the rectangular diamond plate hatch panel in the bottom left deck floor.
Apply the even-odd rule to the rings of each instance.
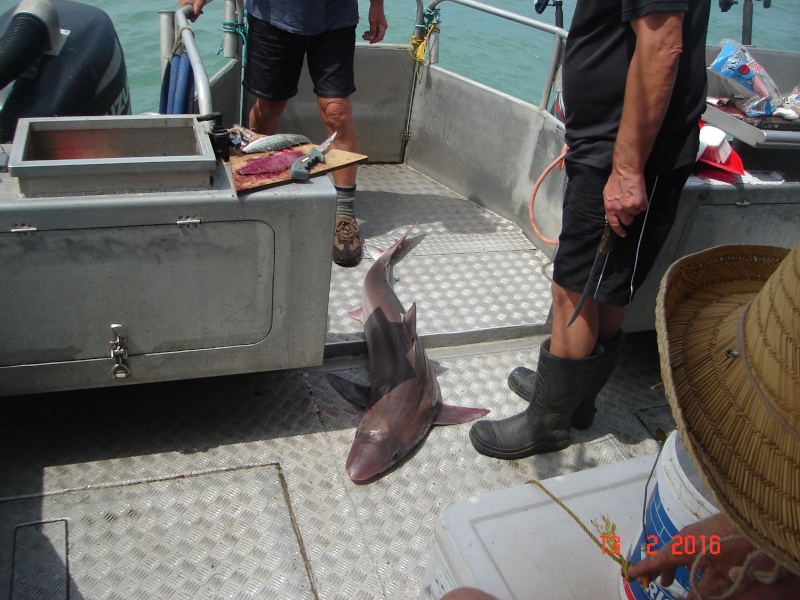
[[[4,502],[0,531],[20,600],[316,596],[278,465]]]

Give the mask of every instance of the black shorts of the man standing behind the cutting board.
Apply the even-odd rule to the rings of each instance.
[[[314,93],[323,98],[347,98],[356,91],[353,58],[356,28],[345,27],[319,35],[289,33],[266,21],[247,21],[247,60],[242,85],[267,100],[288,100],[308,60]]]

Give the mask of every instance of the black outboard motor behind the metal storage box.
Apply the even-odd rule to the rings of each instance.
[[[131,113],[122,46],[99,8],[22,0],[0,32],[0,143],[20,117]]]

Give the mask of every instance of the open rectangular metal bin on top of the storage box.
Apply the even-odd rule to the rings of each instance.
[[[189,115],[20,119],[8,170],[31,194],[207,187],[206,127]]]

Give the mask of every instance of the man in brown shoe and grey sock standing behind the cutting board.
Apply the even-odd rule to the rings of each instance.
[[[192,20],[202,13],[206,0],[180,0],[191,4]],[[353,58],[358,24],[358,0],[246,0],[247,56],[244,87],[256,96],[249,126],[271,135],[289,99],[297,94],[303,67],[314,82],[319,112],[328,130],[336,132],[331,147],[358,152],[358,134],[350,96],[355,92]],[[371,44],[386,34],[383,0],[370,0],[369,31],[363,38]],[[333,260],[341,266],[361,261],[362,246],[353,201],[356,192],[355,165],[333,173],[336,186],[336,224]]]

